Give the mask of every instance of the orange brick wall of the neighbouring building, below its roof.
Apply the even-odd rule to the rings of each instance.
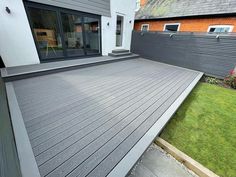
[[[149,24],[149,31],[163,31],[166,23],[180,23],[180,31],[207,32],[210,25],[234,25],[236,32],[236,17],[199,18],[135,22],[134,29],[140,31],[142,24]]]

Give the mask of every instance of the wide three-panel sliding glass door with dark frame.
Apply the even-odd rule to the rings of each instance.
[[[41,60],[101,54],[98,15],[25,2]]]

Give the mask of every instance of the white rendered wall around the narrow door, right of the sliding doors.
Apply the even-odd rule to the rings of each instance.
[[[122,49],[130,50],[136,0],[111,0],[111,17],[102,16],[102,54],[116,49],[116,17],[124,16]],[[131,23],[129,23],[131,21]],[[109,23],[109,26],[107,25]]]

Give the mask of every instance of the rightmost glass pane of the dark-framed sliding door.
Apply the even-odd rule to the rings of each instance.
[[[100,53],[99,19],[84,17],[85,47],[87,55]]]

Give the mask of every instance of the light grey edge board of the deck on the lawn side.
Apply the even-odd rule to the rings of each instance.
[[[126,156],[115,166],[115,168],[107,175],[107,177],[124,177],[126,176],[149,145],[154,141],[156,136],[164,128],[182,102],[187,98],[192,89],[203,76],[202,72],[195,77],[189,86],[181,93],[181,95],[172,103],[158,121],[146,132],[146,134],[136,143],[136,145],[126,154]]]

